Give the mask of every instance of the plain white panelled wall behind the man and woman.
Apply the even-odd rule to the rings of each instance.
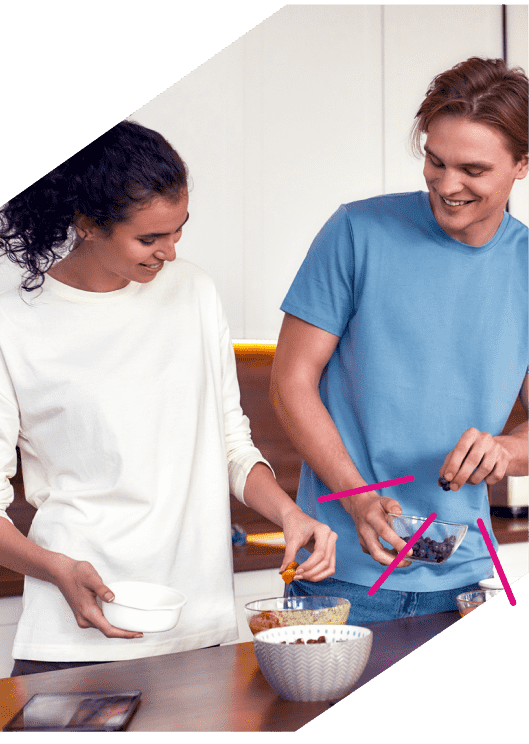
[[[277,339],[279,306],[343,202],[425,189],[408,134],[428,84],[502,56],[501,5],[286,5],[131,112],[187,162],[181,256],[214,278],[235,339]],[[508,62],[529,70],[527,5],[508,5]],[[511,213],[529,224],[529,179]],[[0,265],[0,290],[19,270]]]

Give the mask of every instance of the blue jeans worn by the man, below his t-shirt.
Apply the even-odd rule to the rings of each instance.
[[[347,624],[362,625],[363,623],[378,623],[384,620],[398,620],[401,617],[433,615],[436,612],[457,610],[457,595],[462,592],[475,591],[479,589],[479,584],[469,584],[441,592],[396,592],[378,589],[372,597],[368,595],[369,589],[369,586],[350,584],[347,581],[333,578],[317,582],[300,579],[290,584],[289,596],[343,597],[351,603]]]

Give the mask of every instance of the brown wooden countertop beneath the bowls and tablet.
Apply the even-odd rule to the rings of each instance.
[[[453,611],[365,623],[373,631],[373,647],[349,695],[459,619]],[[395,675],[392,679],[395,684]],[[398,684],[403,684],[400,678]],[[142,691],[127,729],[131,732],[298,731],[329,710],[328,702],[296,703],[280,698],[261,673],[250,642],[2,679],[0,727],[37,692],[131,689]]]

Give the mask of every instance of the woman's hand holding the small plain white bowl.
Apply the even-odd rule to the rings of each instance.
[[[114,595],[103,583],[103,579],[88,561],[76,561],[57,553],[54,560],[53,582],[70,605],[80,628],[97,628],[107,638],[141,638],[142,633],[122,630],[111,625],[99,605],[111,602]]]

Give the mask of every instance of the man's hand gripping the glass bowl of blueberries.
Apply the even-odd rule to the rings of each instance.
[[[406,545],[406,542],[394,532],[387,523],[387,515],[402,514],[398,501],[389,496],[380,497],[375,491],[361,493],[355,496],[347,496],[341,499],[344,509],[351,515],[356,525],[360,547],[370,555],[373,560],[383,566],[389,566],[395,556],[382,547],[379,538],[392,545],[397,553]],[[412,551],[408,552],[408,556]],[[411,566],[411,561],[401,560],[397,568]]]

